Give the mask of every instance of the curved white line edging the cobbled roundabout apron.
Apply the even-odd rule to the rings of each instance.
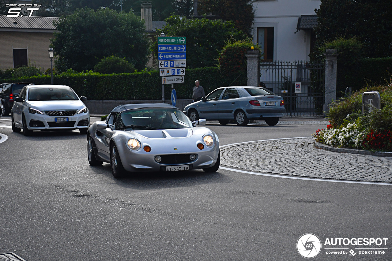
[[[239,143],[232,143],[220,146],[220,148],[232,146],[232,145],[239,145],[239,144],[246,144],[246,143],[253,143],[258,141],[271,141],[271,140],[290,140],[290,139],[304,139],[304,138],[312,138],[312,137],[296,137],[296,138],[280,138],[280,139],[270,139],[270,140],[256,140],[256,141],[245,141]],[[368,185],[385,185],[385,186],[392,186],[392,183],[380,183],[380,182],[366,182],[366,181],[348,181],[348,180],[332,180],[332,179],[314,179],[314,178],[299,178],[299,177],[290,177],[290,176],[281,176],[281,175],[274,175],[274,174],[264,174],[258,172],[250,172],[238,169],[231,169],[226,167],[219,167],[220,169],[240,172],[245,174],[252,174],[258,176],[267,176],[267,177],[275,177],[275,178],[283,178],[283,179],[302,179],[302,180],[311,180],[311,181],[324,181],[324,182],[337,182],[337,183],[358,183],[358,184],[368,184]]]

